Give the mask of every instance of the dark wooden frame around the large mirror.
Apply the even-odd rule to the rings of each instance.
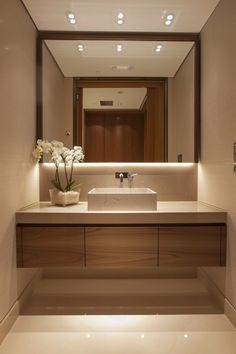
[[[169,32],[64,32],[39,31],[36,50],[36,138],[43,138],[43,41],[44,40],[118,40],[194,42],[194,162],[200,159],[200,35]],[[73,127],[77,114],[73,112]],[[168,163],[168,162],[167,162]]]

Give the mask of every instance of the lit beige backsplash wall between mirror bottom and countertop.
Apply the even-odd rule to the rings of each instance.
[[[157,164],[158,165],[158,164]],[[75,179],[81,183],[81,200],[87,200],[87,193],[95,187],[119,187],[115,171],[138,173],[134,178],[134,187],[149,187],[157,192],[158,200],[197,200],[197,165],[150,166],[149,164],[113,164],[99,167],[97,164],[80,164],[75,167]],[[63,171],[62,171],[63,173]],[[53,164],[40,165],[40,199],[49,200],[48,190],[54,176]],[[124,187],[128,187],[124,180]]]

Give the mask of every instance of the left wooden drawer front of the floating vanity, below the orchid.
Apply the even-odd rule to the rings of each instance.
[[[84,265],[84,228],[19,227],[18,267]]]

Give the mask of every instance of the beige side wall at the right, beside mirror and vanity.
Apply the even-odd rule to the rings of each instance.
[[[228,212],[226,278],[210,270],[213,281],[236,306],[236,2],[221,0],[201,33],[201,163],[199,200]]]

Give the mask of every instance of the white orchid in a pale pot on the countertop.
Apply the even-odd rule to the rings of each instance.
[[[79,201],[79,191],[74,189],[78,187],[73,179],[74,163],[82,162],[84,154],[81,146],[74,146],[69,149],[60,141],[37,140],[33,156],[40,161],[42,156],[47,154],[50,161],[55,165],[55,176],[51,181],[53,188],[49,190],[51,202],[54,205],[76,204]],[[59,166],[64,170],[64,184],[60,176]]]

